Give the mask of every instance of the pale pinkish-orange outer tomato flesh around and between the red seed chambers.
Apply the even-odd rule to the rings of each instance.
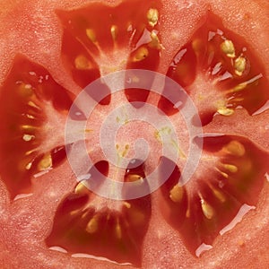
[[[253,48],[256,51],[256,54],[259,55],[261,59],[264,59],[263,62],[266,62],[269,57],[268,54],[265,53],[267,44],[265,40],[268,39],[268,18],[266,18],[268,3],[266,1],[259,1],[259,3],[260,6],[259,4],[256,4],[256,2],[247,2],[242,4],[224,1],[221,4],[212,3],[211,8],[214,13],[219,13],[223,16],[225,25],[228,25],[231,30],[236,30],[246,36],[247,43],[250,44],[250,48]],[[209,6],[209,3],[207,4],[207,6]],[[4,1],[2,5],[6,6],[7,4]],[[69,85],[72,84],[72,80],[65,74],[65,68],[57,66],[59,61],[48,59],[47,54],[40,52],[42,50],[39,48],[48,49],[48,47],[52,47],[48,49],[48,51],[52,52],[52,58],[55,56],[56,59],[59,59],[60,48],[57,45],[61,36],[59,30],[56,30],[55,32],[52,30],[51,33],[48,32],[46,28],[47,25],[52,24],[57,25],[58,27],[56,16],[51,14],[54,13],[52,12],[53,9],[74,7],[81,7],[81,3],[68,3],[66,1],[56,3],[52,2],[48,4],[46,1],[42,3],[36,1],[25,1],[18,4],[17,10],[13,9],[13,14],[28,14],[29,10],[31,13],[34,13],[34,11],[36,11],[36,13],[40,13],[40,10],[42,10],[44,12],[42,16],[44,18],[47,17],[47,19],[44,20],[48,23],[44,23],[46,24],[46,27],[43,26],[43,23],[40,23],[42,25],[39,25],[39,22],[34,20],[30,15],[30,22],[33,22],[32,24],[29,23],[28,16],[26,16],[27,20],[25,19],[24,22],[21,20],[21,16],[20,19],[16,21],[17,23],[14,23],[14,18],[19,18],[19,16],[14,15],[10,16],[12,19],[4,20],[4,22],[8,21],[9,23],[7,23],[8,27],[5,27],[6,24],[4,23],[1,26],[1,32],[3,33],[2,36],[4,37],[3,43],[6,42],[9,46],[1,43],[1,47],[6,48],[4,49],[4,52],[2,52],[3,54],[6,53],[6,56],[3,56],[1,60],[1,70],[3,70],[3,72],[1,72],[2,82],[4,82],[8,66],[11,66],[13,63],[14,52],[21,51],[30,56],[31,59],[47,66],[49,70],[53,70],[53,73],[56,74],[57,81],[64,82],[66,79],[64,84],[67,85],[68,82],[70,82],[70,84],[68,84],[68,87],[70,87]],[[25,11],[22,12],[23,9]],[[182,4],[180,9],[176,3],[170,1],[168,4],[164,4],[164,10],[166,11],[165,16],[172,19],[169,20],[169,23],[163,22],[162,24],[163,28],[167,27],[166,33],[162,36],[162,39],[166,40],[164,41],[164,46],[167,48],[167,51],[161,59],[162,67],[160,67],[160,71],[163,73],[165,73],[166,67],[169,65],[172,57],[178,49],[181,48],[181,46],[184,46],[185,42],[191,35],[193,30],[190,25],[198,25],[199,18],[204,15],[206,9],[204,5],[197,3],[193,4],[192,11],[190,8],[187,8],[187,4]],[[6,11],[6,8],[4,8],[4,11]],[[10,13],[10,11],[8,12]],[[248,15],[245,18],[244,15],[246,15],[246,13]],[[232,16],[231,14],[238,15]],[[185,20],[189,23],[182,20],[182,18],[186,17],[187,19]],[[243,23],[241,23],[242,18],[244,18]],[[181,22],[178,22],[180,20]],[[22,24],[22,26],[19,27],[20,30],[15,30],[15,28],[20,24]],[[178,25],[181,27],[178,27]],[[254,29],[251,29],[252,26],[255,26]],[[40,42],[36,42],[37,37],[35,35],[29,36],[25,34],[27,30],[30,30],[30,33],[33,32],[30,27],[33,27],[34,30],[38,30],[39,36],[43,36],[45,39],[45,41],[43,41],[44,43],[42,43],[42,40],[39,40]],[[53,27],[48,27],[48,29],[52,28]],[[181,30],[179,32],[178,28],[187,28],[186,33],[182,33]],[[9,32],[7,33],[7,31]],[[14,41],[14,39],[11,38],[12,33],[15,33],[19,39]],[[171,36],[173,33],[176,33],[182,39],[172,38]],[[49,36],[53,37],[52,42],[50,38],[48,38]],[[25,42],[22,42],[22,40]],[[32,48],[28,48],[29,44],[33,44]],[[173,46],[169,46],[169,44],[173,44]],[[268,74],[269,69],[267,65],[265,65],[265,70],[266,74]],[[248,117],[247,113],[245,115],[243,111],[239,111],[236,115],[239,116],[237,119],[228,119],[229,126],[224,126],[225,119],[218,117],[214,119],[213,124],[207,126],[207,129],[211,129],[215,126],[216,129],[222,133],[227,132],[227,129],[229,129],[230,133],[240,133],[240,131],[242,131],[242,134],[246,134],[250,138],[253,138],[257,144],[264,146],[268,151],[269,145],[266,141],[269,141],[269,139],[266,138],[269,137],[269,134],[268,129],[265,128],[268,113],[262,113],[257,117]],[[238,122],[239,120],[240,123]],[[239,128],[236,128],[236,124],[238,123],[240,126]],[[257,131],[254,132],[253,129]],[[3,229],[1,230],[0,242],[3,246],[2,249],[4,249],[1,252],[1,262],[5,267],[19,268],[21,264],[21,266],[25,265],[28,268],[34,268],[37,266],[39,266],[39,268],[52,268],[53,266],[66,268],[66,265],[69,265],[71,268],[121,268],[117,265],[110,265],[107,262],[102,261],[96,262],[86,258],[74,259],[70,256],[66,256],[65,254],[48,251],[47,247],[43,245],[43,240],[45,239],[44,234],[48,235],[52,226],[53,215],[51,214],[51,209],[56,211],[56,206],[59,204],[58,197],[63,197],[66,194],[65,188],[72,190],[74,187],[74,180],[67,180],[67,184],[65,182],[66,178],[70,178],[70,175],[72,175],[72,172],[68,165],[63,164],[57,172],[52,172],[52,174],[46,178],[65,178],[65,180],[59,179],[61,180],[60,182],[63,187],[60,186],[61,184],[59,183],[53,183],[53,180],[44,179],[35,184],[37,191],[36,194],[26,200],[21,199],[15,201],[13,204],[10,204],[6,188],[3,184],[1,185],[1,196],[3,197],[3,200],[1,201],[1,208],[4,208],[4,217],[1,218],[1,228],[3,227]],[[47,190],[45,187],[48,185],[48,181],[50,187],[48,187]],[[67,186],[65,185],[66,187],[64,187],[64,184]],[[50,192],[53,191],[56,192],[56,197],[50,195]],[[268,204],[265,199],[268,194],[269,189],[268,184],[266,183],[262,194],[259,195],[260,199],[257,204],[256,212],[249,213],[246,220],[239,223],[235,230],[233,230],[230,234],[217,239],[212,251],[204,253],[204,256],[199,259],[194,258],[187,252],[181,240],[178,239],[178,234],[174,230],[169,229],[169,226],[161,219],[158,210],[154,211],[152,216],[152,231],[148,234],[143,248],[143,268],[152,268],[152,265],[158,265],[159,268],[167,268],[168,266],[171,268],[173,266],[183,266],[186,268],[233,268],[234,265],[237,265],[239,268],[244,268],[249,265],[250,260],[252,265],[254,267],[256,266],[256,268],[266,267],[269,264],[266,250],[268,249],[266,246],[268,246],[269,241],[269,212]],[[158,199],[156,196],[155,198]],[[40,223],[42,223],[42,225]],[[156,223],[159,223],[158,234],[154,231],[157,230],[155,225]],[[13,229],[11,229],[11,226]],[[247,239],[245,236],[246,234],[249,235]],[[256,240],[256,238],[259,240]],[[245,240],[243,243],[240,242],[242,239],[243,241]],[[158,242],[158,244],[156,242]],[[16,259],[13,257],[14,253],[17,254]],[[40,255],[37,255],[37,253]],[[161,255],[163,255],[164,258],[161,259]],[[178,256],[180,258],[178,258]],[[184,258],[181,258],[182,256],[184,256]],[[259,256],[263,256],[263,260],[257,258]],[[126,268],[128,267],[129,266],[126,266]]]

